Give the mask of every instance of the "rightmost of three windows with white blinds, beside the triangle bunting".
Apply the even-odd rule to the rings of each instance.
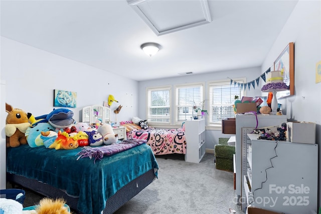
[[[245,82],[244,79],[233,79],[238,83]],[[243,96],[241,87],[231,84],[231,80],[215,81],[209,83],[209,124],[222,125],[222,119],[235,117],[233,104],[235,96],[239,99]]]

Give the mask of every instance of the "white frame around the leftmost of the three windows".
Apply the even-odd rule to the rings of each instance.
[[[169,90],[169,121],[168,122],[156,122],[156,121],[150,121],[149,118],[149,109],[150,109],[150,103],[149,103],[149,91],[165,91]],[[158,86],[158,87],[147,87],[146,88],[146,119],[148,124],[150,125],[171,125],[172,123],[172,85],[165,85],[165,86]]]

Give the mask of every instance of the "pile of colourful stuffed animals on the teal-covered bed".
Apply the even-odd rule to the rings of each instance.
[[[49,114],[35,117],[6,103],[6,111],[7,147],[28,143],[32,148],[45,146],[58,150],[110,145],[118,141],[118,134],[109,124],[75,123],[74,113],[69,109],[54,109]]]

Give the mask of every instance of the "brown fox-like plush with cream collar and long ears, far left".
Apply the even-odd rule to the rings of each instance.
[[[6,119],[6,146],[17,147],[20,144],[26,144],[27,138],[25,136],[26,130],[31,126],[29,118],[31,113],[26,113],[22,109],[13,108],[6,103],[6,112],[8,113]]]

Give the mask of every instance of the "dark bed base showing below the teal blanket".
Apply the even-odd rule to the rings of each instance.
[[[130,181],[128,184],[119,189],[106,202],[105,209],[101,212],[103,214],[111,214],[119,209],[125,202],[130,200],[138,194],[143,188],[149,185],[155,179],[154,170],[150,169],[146,173],[140,175],[136,179]],[[63,190],[55,188],[49,184],[37,181],[35,179],[26,178],[20,175],[7,173],[7,181],[12,184],[19,184],[26,188],[32,189],[44,196],[57,198],[63,197],[66,203],[74,210],[77,210],[78,198],[66,194]],[[73,211],[73,213],[75,213]],[[82,214],[77,210],[77,213]]]

